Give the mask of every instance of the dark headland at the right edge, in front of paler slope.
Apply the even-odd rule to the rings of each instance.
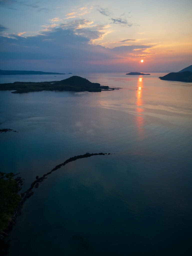
[[[163,77],[159,77],[161,80],[179,81],[179,82],[192,82],[192,72],[172,72]]]

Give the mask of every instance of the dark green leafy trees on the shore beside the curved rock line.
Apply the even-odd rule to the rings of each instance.
[[[13,176],[13,173],[0,172],[0,233],[7,228],[14,210],[21,200],[18,195],[20,186]]]

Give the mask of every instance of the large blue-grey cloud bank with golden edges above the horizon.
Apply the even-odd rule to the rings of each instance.
[[[24,37],[24,32],[10,34],[9,37],[0,36],[0,65],[5,66],[7,63],[12,69],[13,65],[18,69],[31,69],[35,66],[39,70],[42,66],[50,65],[49,71],[52,67],[52,70],[54,68],[58,72],[63,69],[69,70],[68,72],[101,71],[102,68],[110,70],[110,66],[116,65],[116,61],[120,63],[122,59],[129,59],[135,49],[150,50],[153,47],[129,45],[106,48],[96,42],[110,33],[109,25],[95,24],[88,19],[75,19],[61,24],[58,18],[52,21],[55,23],[43,26],[39,34],[34,36]],[[5,29],[3,26],[0,28]],[[140,50],[139,54],[143,52]]]

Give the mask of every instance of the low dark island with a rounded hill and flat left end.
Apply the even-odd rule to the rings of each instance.
[[[102,90],[114,90],[109,86],[101,86],[100,83],[92,83],[86,78],[72,76],[61,81],[50,82],[14,82],[0,84],[0,90],[15,90],[12,93],[26,93],[37,91],[88,91],[101,92]]]

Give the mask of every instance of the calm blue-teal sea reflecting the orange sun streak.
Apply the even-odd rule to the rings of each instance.
[[[9,256],[191,255],[192,83],[125,73],[0,76],[1,83],[78,75],[101,92],[0,91],[1,171],[34,188]],[[108,153],[111,153],[108,155]]]

